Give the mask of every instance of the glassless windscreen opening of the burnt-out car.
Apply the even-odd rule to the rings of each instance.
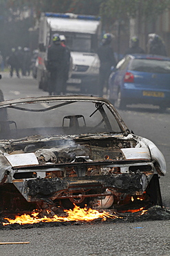
[[[67,134],[120,133],[114,114],[96,102],[41,102],[6,108],[0,122],[1,138]]]

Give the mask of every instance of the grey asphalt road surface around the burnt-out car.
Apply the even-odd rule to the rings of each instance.
[[[2,73],[0,89],[5,100],[28,96],[47,95],[39,90],[32,77],[10,78]],[[170,109],[160,113],[151,106],[142,109],[129,107],[119,111],[120,116],[135,134],[156,143],[167,161],[167,175],[161,177],[163,205],[170,207]],[[0,242],[29,241],[30,244],[0,245],[0,255],[170,255],[170,221],[135,221],[125,223],[95,223],[0,230]]]

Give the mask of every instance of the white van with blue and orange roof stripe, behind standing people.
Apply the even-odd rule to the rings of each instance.
[[[42,13],[39,28],[39,64],[37,79],[39,88],[47,88],[47,49],[52,35],[65,35],[70,48],[72,64],[68,84],[78,86],[81,91],[96,92],[100,61],[97,55],[101,21],[99,17],[75,15],[73,13]]]

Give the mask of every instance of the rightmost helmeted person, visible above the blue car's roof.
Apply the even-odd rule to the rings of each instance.
[[[148,35],[148,51],[149,54],[167,56],[167,51],[162,38],[157,34]]]

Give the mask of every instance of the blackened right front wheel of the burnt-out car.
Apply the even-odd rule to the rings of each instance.
[[[158,174],[153,174],[151,181],[146,190],[147,194],[149,194],[150,201],[154,205],[160,205],[162,207],[162,196],[160,193],[160,183]]]

